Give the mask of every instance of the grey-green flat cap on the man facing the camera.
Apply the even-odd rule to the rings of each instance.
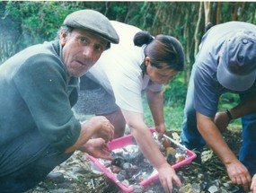
[[[69,27],[93,31],[111,43],[119,43],[119,35],[110,20],[94,10],[85,9],[70,13],[63,23]]]

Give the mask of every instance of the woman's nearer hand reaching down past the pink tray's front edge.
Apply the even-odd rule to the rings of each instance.
[[[164,163],[157,171],[159,174],[159,180],[166,193],[172,192],[173,182],[175,182],[175,184],[181,188],[181,180],[176,175],[176,172],[172,169],[172,166],[169,163]]]

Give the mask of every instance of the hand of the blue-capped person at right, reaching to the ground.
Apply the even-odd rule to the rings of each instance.
[[[247,191],[250,187],[252,178],[249,171],[238,160],[225,165],[227,174],[234,184],[243,185],[243,189]]]

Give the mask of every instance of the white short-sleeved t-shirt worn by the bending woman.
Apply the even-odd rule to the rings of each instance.
[[[100,83],[108,92],[114,94],[120,109],[143,113],[142,91],[150,89],[159,92],[162,84],[154,84],[140,68],[145,59],[146,46],[137,47],[133,38],[137,27],[111,21],[119,34],[119,44],[111,44],[110,49],[89,70],[93,81]]]

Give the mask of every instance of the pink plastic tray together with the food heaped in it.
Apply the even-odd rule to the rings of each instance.
[[[155,143],[172,168],[177,169],[190,163],[196,154],[169,136],[158,139],[154,129],[150,129]],[[146,187],[158,179],[158,173],[139,150],[133,136],[123,136],[109,143],[114,161],[96,159],[87,155],[106,176],[122,189],[122,192],[133,192],[137,187]]]

